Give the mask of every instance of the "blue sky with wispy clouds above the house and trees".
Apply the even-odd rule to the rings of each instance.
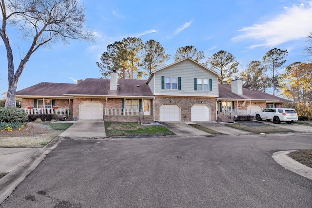
[[[239,69],[261,60],[273,48],[288,50],[285,67],[307,62],[304,53],[312,31],[312,0],[78,0],[86,8],[85,28],[96,43],[70,40],[39,48],[25,66],[17,90],[40,82],[77,83],[99,78],[96,65],[108,44],[122,38],[154,39],[174,62],[179,47],[193,45],[211,57],[227,51]],[[15,68],[30,43],[8,26]],[[311,57],[310,57],[311,59]],[[7,91],[7,59],[0,40],[0,94]]]

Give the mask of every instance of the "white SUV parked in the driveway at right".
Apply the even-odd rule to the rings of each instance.
[[[298,120],[297,113],[291,108],[266,108],[256,112],[254,117],[258,121],[261,121],[262,118],[267,121],[273,120],[274,124],[279,124],[281,121],[291,124]]]

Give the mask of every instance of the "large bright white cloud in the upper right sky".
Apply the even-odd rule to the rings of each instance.
[[[232,41],[254,39],[258,44],[249,46],[253,49],[260,46],[274,47],[287,41],[305,38],[312,30],[312,1],[308,6],[301,3],[299,6],[285,7],[285,12],[272,19],[244,27],[239,32],[242,35],[232,38]]]

